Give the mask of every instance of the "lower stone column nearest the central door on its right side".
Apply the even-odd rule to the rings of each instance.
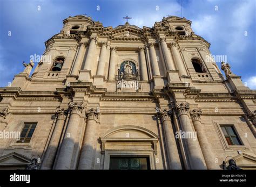
[[[179,159],[178,148],[172,131],[171,118],[169,116],[170,114],[172,114],[172,110],[159,109],[159,114],[164,128],[164,135],[169,160],[169,169],[182,169]]]

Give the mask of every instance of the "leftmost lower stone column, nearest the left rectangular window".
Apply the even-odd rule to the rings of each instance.
[[[64,108],[60,109],[59,107],[57,107],[56,124],[52,132],[51,140],[49,142],[48,148],[44,155],[44,160],[43,160],[41,169],[52,169],[52,166],[56,157],[56,153],[58,150],[60,137],[62,135],[63,126],[65,124],[66,113],[67,113],[67,110],[65,110]]]

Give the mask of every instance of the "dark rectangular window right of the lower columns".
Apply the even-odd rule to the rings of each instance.
[[[228,145],[230,146],[239,146],[242,145],[237,133],[234,130],[234,126],[232,125],[225,125],[221,126],[221,130],[226,138]]]

